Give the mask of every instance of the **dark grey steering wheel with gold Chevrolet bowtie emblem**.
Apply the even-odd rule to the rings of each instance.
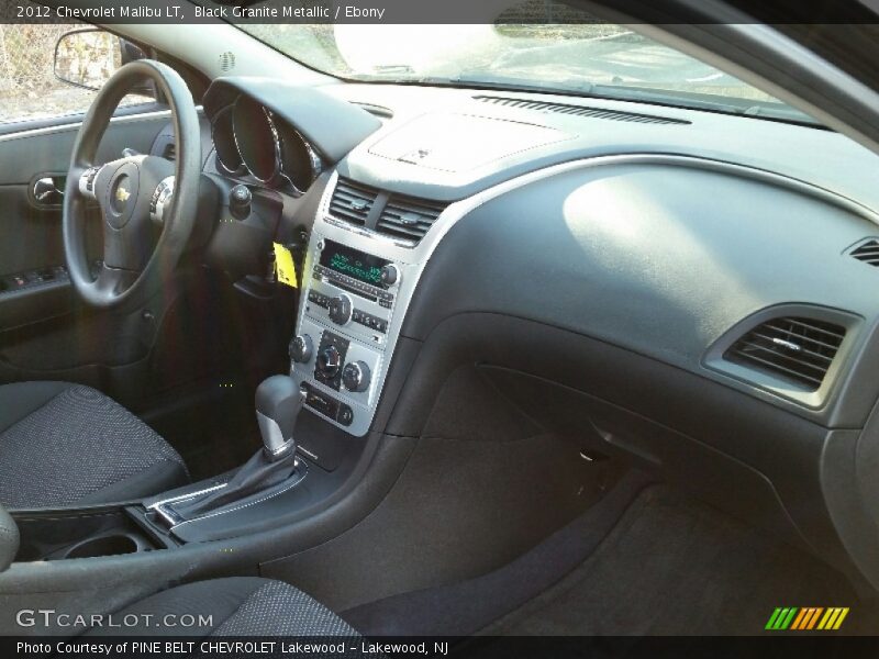
[[[176,160],[129,156],[97,165],[98,145],[122,98],[144,78],[171,110]],[[133,308],[167,281],[196,221],[201,132],[192,94],[173,68],[151,59],[122,66],[98,91],[74,143],[64,196],[64,252],[70,281],[88,304]],[[103,265],[92,275],[86,253],[86,206],[103,222]],[[155,241],[155,225],[162,234]]]

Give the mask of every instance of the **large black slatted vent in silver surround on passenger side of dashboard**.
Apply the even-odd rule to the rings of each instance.
[[[724,359],[816,391],[845,338],[845,327],[803,317],[767,321],[735,342]]]

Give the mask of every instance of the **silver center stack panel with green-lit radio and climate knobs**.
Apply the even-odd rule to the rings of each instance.
[[[330,209],[337,181],[334,175],[324,193],[305,256],[290,375],[307,392],[307,410],[364,436],[439,232],[413,243],[344,222]]]

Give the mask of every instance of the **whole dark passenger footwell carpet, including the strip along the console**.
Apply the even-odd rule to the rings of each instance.
[[[841,632],[879,632],[876,607],[825,563],[632,473],[499,570],[343,617],[367,636],[750,636],[777,606],[848,606]]]

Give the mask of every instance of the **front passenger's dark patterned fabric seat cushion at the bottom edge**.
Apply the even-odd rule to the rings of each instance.
[[[137,618],[131,616],[134,614]],[[155,621],[185,623],[183,616],[209,618],[199,626],[156,625]],[[257,577],[198,581],[162,591],[113,614],[114,619],[138,619],[140,625],[91,628],[87,634],[165,636],[359,636],[345,621],[302,591]],[[152,623],[152,624],[151,624]]]

